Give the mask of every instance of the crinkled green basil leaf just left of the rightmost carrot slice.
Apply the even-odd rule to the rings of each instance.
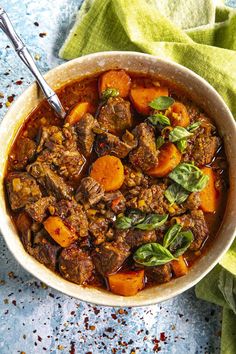
[[[189,192],[201,191],[207,185],[209,179],[197,166],[190,163],[180,163],[169,174],[169,178]]]

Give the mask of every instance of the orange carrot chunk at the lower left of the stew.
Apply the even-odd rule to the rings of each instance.
[[[59,216],[49,216],[44,223],[45,230],[61,247],[68,247],[78,238],[76,233],[71,231]]]

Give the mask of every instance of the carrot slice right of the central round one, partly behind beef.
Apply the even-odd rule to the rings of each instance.
[[[167,176],[181,161],[181,153],[173,143],[166,143],[160,148],[158,164],[147,171],[149,176]]]

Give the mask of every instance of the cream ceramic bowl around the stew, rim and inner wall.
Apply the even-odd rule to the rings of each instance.
[[[230,189],[223,223],[208,253],[190,269],[186,276],[145,289],[131,297],[122,297],[105,290],[70,283],[26,253],[7,212],[3,185],[10,146],[28,114],[42,100],[36,84],[31,85],[18,98],[0,126],[0,228],[8,248],[18,262],[47,285],[91,303],[109,306],[143,306],[167,300],[195,285],[216,265],[230,247],[236,225],[236,127],[224,101],[205,80],[183,66],[151,55],[135,52],[91,54],[58,66],[49,71],[45,78],[54,89],[58,89],[71,80],[117,68],[155,74],[184,87],[189,96],[214,119],[224,139],[229,162]]]

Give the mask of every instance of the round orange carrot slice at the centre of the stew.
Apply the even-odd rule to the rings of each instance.
[[[124,166],[118,157],[105,155],[93,163],[90,176],[99,182],[106,192],[114,191],[124,182]]]

